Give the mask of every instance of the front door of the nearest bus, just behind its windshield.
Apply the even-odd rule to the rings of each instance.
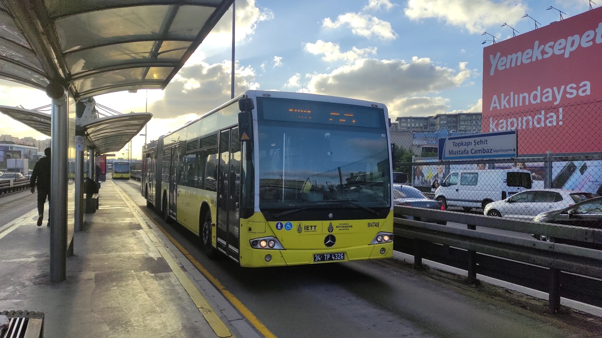
[[[240,141],[238,128],[220,132],[217,183],[217,247],[238,261]]]

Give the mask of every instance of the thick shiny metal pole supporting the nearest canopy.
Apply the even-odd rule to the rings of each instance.
[[[50,280],[67,278],[67,184],[69,179],[69,115],[67,93],[60,84],[46,88],[52,98],[50,185]]]

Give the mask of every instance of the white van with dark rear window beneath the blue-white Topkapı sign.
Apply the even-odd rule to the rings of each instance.
[[[531,189],[531,173],[520,169],[452,171],[435,191],[435,200],[447,206],[485,208],[492,201]]]

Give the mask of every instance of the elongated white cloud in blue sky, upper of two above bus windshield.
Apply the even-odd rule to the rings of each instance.
[[[362,13],[345,13],[337,17],[336,21],[332,21],[330,17],[323,20],[324,28],[338,28],[347,26],[351,28],[353,34],[360,35],[365,38],[373,36],[380,40],[395,40],[397,33],[391,27],[391,23],[380,20],[376,16],[371,16]]]

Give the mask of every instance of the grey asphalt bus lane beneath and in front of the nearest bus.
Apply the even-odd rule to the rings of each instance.
[[[197,236],[146,208],[140,183],[114,182],[276,337],[534,338],[583,333],[390,261],[252,269],[223,256],[211,260],[200,251]]]

